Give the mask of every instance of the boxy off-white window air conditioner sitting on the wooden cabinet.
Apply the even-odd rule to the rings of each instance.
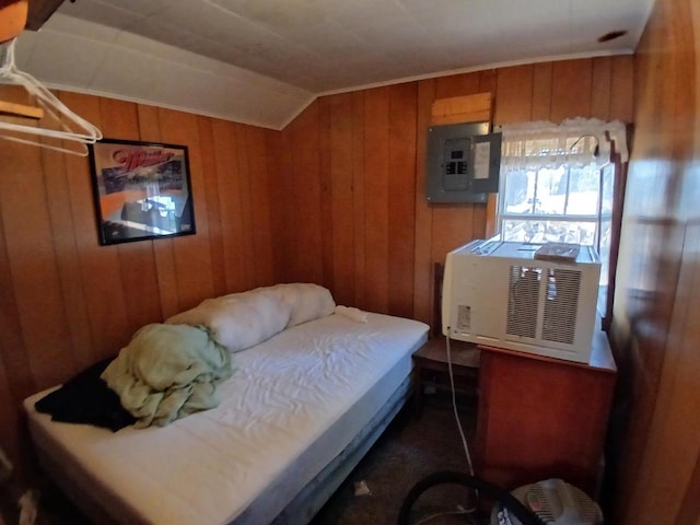
[[[452,339],[588,363],[600,261],[540,260],[541,245],[474,241],[445,260],[442,332]]]

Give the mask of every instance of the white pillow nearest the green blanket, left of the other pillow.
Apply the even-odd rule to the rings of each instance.
[[[259,288],[207,299],[199,306],[174,315],[165,323],[205,326],[217,342],[231,352],[238,352],[282,331],[291,312],[291,306],[281,301],[278,293]]]

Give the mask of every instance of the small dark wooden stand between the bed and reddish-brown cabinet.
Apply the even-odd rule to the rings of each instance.
[[[476,345],[463,341],[450,341],[452,373],[455,381],[455,392],[476,396],[479,381],[479,349]],[[413,406],[416,415],[420,416],[423,390],[427,386],[450,390],[450,374],[447,368],[447,349],[444,337],[435,337],[413,353],[416,364],[416,390]]]

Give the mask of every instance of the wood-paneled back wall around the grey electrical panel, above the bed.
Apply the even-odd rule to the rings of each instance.
[[[318,98],[281,133],[276,275],[337,301],[431,322],[432,265],[486,236],[483,205],[428,205],[425,133],[439,98],[491,93],[493,122],[632,119],[631,56],[544,62]]]

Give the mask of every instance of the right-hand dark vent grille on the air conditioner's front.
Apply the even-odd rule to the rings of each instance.
[[[541,332],[544,340],[573,345],[580,292],[581,271],[547,270],[547,299]]]

